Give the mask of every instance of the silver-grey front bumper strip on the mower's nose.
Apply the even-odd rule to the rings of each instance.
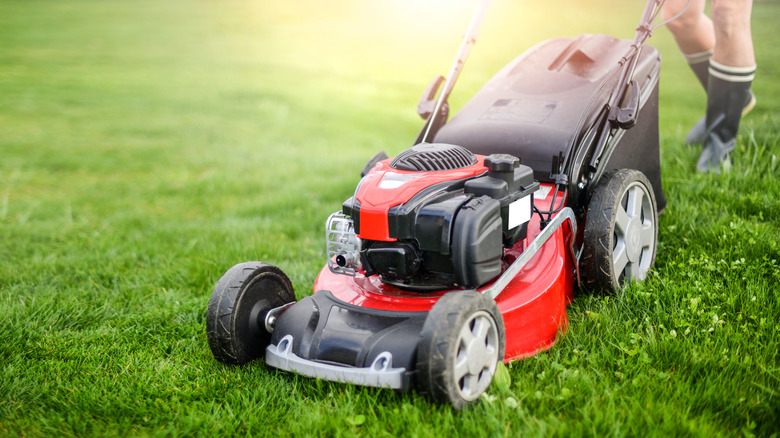
[[[388,351],[377,356],[371,366],[356,368],[303,359],[292,352],[292,346],[293,337],[290,335],[282,338],[278,345],[269,345],[265,350],[265,363],[281,370],[334,382],[396,390],[405,387],[406,368],[393,368],[393,355]]]

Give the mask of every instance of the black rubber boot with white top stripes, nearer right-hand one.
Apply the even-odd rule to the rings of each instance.
[[[728,170],[729,153],[734,150],[744,102],[749,99],[750,85],[756,68],[729,67],[710,60],[707,86],[706,135],[696,163],[699,172]]]

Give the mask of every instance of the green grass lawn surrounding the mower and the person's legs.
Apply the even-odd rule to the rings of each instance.
[[[0,435],[699,435],[780,430],[780,4],[734,168],[681,143],[704,94],[665,29],[668,208],[648,281],[578,294],[549,351],[463,412],[214,361],[235,263],[311,293],[323,222],[414,139],[473,2],[0,0]],[[534,43],[631,37],[641,6],[495,2],[452,97]],[[443,18],[439,18],[441,15]]]

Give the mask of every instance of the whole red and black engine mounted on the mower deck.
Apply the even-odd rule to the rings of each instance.
[[[417,292],[477,288],[526,237],[538,188],[515,156],[418,144],[379,162],[328,219],[328,267]]]

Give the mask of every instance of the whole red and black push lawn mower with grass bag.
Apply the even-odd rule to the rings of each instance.
[[[296,301],[284,272],[261,262],[219,280],[207,312],[217,360],[264,357],[460,408],[499,361],[554,344],[575,285],[614,293],[647,276],[666,201],[660,56],[645,42],[663,0],[647,2],[633,41],[584,34],[534,46],[448,121],[488,3],[446,79],[423,93],[414,145],[369,160],[327,219],[313,295]]]

